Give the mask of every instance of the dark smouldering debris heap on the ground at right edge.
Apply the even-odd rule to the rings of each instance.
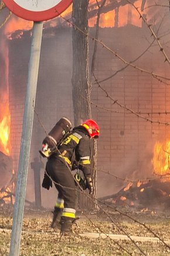
[[[170,208],[170,184],[169,181],[162,182],[160,179],[128,184],[117,194],[103,198],[103,200],[114,205],[137,207],[141,209],[162,209]]]

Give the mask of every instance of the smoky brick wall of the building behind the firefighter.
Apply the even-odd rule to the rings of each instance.
[[[94,33],[91,29],[91,34]],[[138,36],[136,36],[138,35]],[[132,61],[148,46],[145,40],[147,31],[128,26],[127,28],[100,29],[100,38],[111,49]],[[20,54],[18,56],[17,49]],[[25,85],[27,82],[30,38],[13,40],[10,45],[10,108],[12,115],[12,147],[15,168],[18,169],[19,147],[21,143],[22,115],[25,102]],[[168,74],[168,65],[162,55],[155,54],[157,48],[151,48],[135,62],[138,67],[159,74]],[[90,52],[93,42],[90,42]],[[98,45],[95,75],[98,81],[113,75],[124,68],[124,64],[111,52]],[[168,76],[168,75],[167,75]],[[70,29],[63,29],[53,38],[43,37],[40,56],[36,111],[46,131],[55,125],[57,119],[67,116],[73,120],[72,111],[72,34]],[[168,85],[159,82],[149,74],[128,67],[112,78],[100,83],[109,97],[126,105],[135,112],[144,113],[169,111],[170,92]],[[145,119],[130,114],[124,108],[113,104],[113,100],[93,83],[91,91],[91,111],[100,126],[98,139],[98,169],[110,171],[119,177],[146,178],[152,173],[152,151],[155,141],[169,136],[169,127],[151,124]],[[96,105],[98,107],[96,107]],[[111,111],[107,111],[111,109]],[[142,114],[148,117],[147,114]],[[168,115],[152,114],[149,118],[167,121]],[[34,117],[32,144],[29,162],[38,155],[42,139],[45,137],[38,118]],[[43,159],[45,164],[45,160]],[[43,177],[43,171],[42,171]],[[113,194],[125,183],[104,172],[98,171],[98,197]],[[33,200],[33,171],[28,173],[27,198]],[[42,191],[44,205],[52,206],[56,191]],[[47,198],[52,199],[48,204]]]

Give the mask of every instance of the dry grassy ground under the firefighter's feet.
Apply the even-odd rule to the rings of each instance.
[[[80,219],[73,226],[75,235],[60,237],[58,231],[50,228],[51,209],[25,208],[19,255],[170,255],[170,211],[124,207],[117,210],[78,211]],[[3,256],[9,255],[12,211],[8,205],[0,207],[0,255]],[[91,238],[89,233],[100,235]],[[126,235],[126,239],[111,235],[103,238],[101,234]],[[148,241],[138,241],[132,236],[148,237]]]

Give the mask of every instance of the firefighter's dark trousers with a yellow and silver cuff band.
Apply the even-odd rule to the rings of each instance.
[[[76,208],[76,184],[69,168],[55,157],[50,157],[46,164],[46,171],[53,179],[59,198],[64,200],[64,217],[75,218]],[[60,185],[61,186],[60,186]]]

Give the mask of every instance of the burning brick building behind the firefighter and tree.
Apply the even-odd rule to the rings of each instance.
[[[134,2],[141,6],[143,1]],[[169,64],[165,62],[165,56],[159,51],[157,40],[152,39],[148,27],[143,24],[142,19],[138,18],[135,9],[122,3],[113,8],[110,3],[111,1],[107,1],[105,11],[101,14],[99,38],[111,51],[108,51],[103,44],[98,44],[94,71],[98,83],[93,81],[91,91],[92,116],[101,129],[98,140],[98,197],[113,194],[126,184],[125,180],[115,179],[108,172],[115,176],[132,179],[147,179],[154,175],[155,144],[160,141],[163,145],[170,139],[169,83],[163,79],[168,77]],[[94,8],[89,12],[92,37],[96,31],[93,11]],[[157,11],[156,8],[155,13]],[[19,21],[22,21],[12,17],[13,24],[19,25]],[[149,21],[154,22],[152,19]],[[3,149],[5,151],[2,151],[2,147],[0,151],[12,157],[12,169],[15,172],[18,170],[32,35],[32,23],[25,21],[23,23],[25,30],[21,25],[20,28],[13,29],[15,32],[10,33],[10,36],[7,33],[5,42],[1,42],[4,54],[3,58],[1,57],[1,67],[4,68],[4,71],[1,69],[3,92],[1,97],[3,102],[6,102],[6,107],[5,104],[1,106],[0,113],[3,114],[1,114],[0,127],[4,126],[3,120],[8,121],[10,133],[5,144],[6,149]],[[50,25],[46,23],[43,30],[35,105],[39,118],[35,114],[26,190],[26,198],[29,201],[34,200],[33,171],[30,162],[38,156],[42,139],[45,137],[45,130],[42,129],[41,124],[46,131],[50,131],[62,116],[67,116],[73,121],[72,28],[59,23],[62,23],[61,19],[60,22],[59,19],[54,19]],[[6,24],[5,33],[11,29],[10,24],[10,22]],[[159,24],[160,21],[158,21]],[[160,33],[166,42],[164,49],[169,54],[169,35],[166,33],[169,19],[162,24]],[[157,26],[156,23],[155,26]],[[93,46],[93,41],[90,41],[90,55],[93,53]],[[120,55],[124,61],[114,53]],[[132,65],[125,67],[127,62],[131,62]],[[159,75],[159,79],[152,73]],[[169,149],[161,147],[160,150],[166,151],[169,155]],[[43,162],[45,165],[44,159]],[[169,171],[169,165],[167,166],[166,173]],[[162,174],[161,167],[157,170],[157,174]],[[51,204],[55,202],[55,193],[55,191],[50,192],[52,200],[49,203]],[[49,197],[48,192],[42,190],[43,205],[47,205],[47,197]]]

